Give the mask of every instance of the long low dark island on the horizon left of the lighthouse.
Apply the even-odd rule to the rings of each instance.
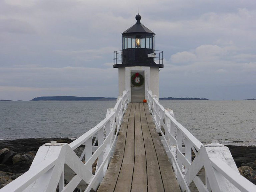
[[[48,96],[35,97],[31,101],[115,101],[115,97],[75,97],[75,96]]]

